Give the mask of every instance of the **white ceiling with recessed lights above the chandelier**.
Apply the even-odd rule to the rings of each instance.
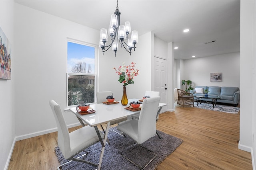
[[[15,0],[16,3],[100,30],[116,0]],[[240,51],[240,0],[119,0],[120,22],[138,35],[152,31],[173,42],[175,59]],[[190,29],[184,33],[184,29]],[[214,43],[207,43],[212,42]],[[140,42],[138,42],[140,43]]]

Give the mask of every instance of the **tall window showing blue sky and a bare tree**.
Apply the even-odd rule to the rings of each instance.
[[[86,43],[68,41],[68,106],[95,102],[95,49]]]

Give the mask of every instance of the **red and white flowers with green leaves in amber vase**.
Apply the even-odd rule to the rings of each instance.
[[[128,84],[134,84],[133,78],[134,76],[137,76],[139,74],[139,70],[135,68],[135,64],[136,63],[132,62],[131,65],[126,66],[123,63],[122,66],[119,66],[118,68],[113,68],[119,75],[118,81],[120,83],[123,83],[124,86],[127,86]]]

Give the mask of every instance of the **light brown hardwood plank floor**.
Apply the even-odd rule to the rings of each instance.
[[[238,149],[239,114],[175,107],[157,129],[184,141],[158,170],[252,170],[251,153]],[[56,132],[17,141],[8,170],[56,170],[56,146]]]

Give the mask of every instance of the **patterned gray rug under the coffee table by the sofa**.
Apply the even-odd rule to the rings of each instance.
[[[240,108],[234,107],[234,106],[226,106],[226,105],[219,105],[212,107],[212,104],[208,103],[199,103],[197,106],[197,102],[194,102],[194,107],[200,108],[200,109],[207,109],[207,110],[214,110],[214,111],[221,111],[225,113],[232,113],[232,114],[238,114]]]

